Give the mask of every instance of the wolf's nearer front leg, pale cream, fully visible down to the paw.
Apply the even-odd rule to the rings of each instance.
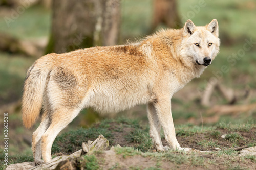
[[[155,108],[157,112],[158,119],[164,130],[164,137],[169,147],[172,149],[181,150],[180,144],[176,139],[175,128],[173,123],[173,116],[170,106],[170,97],[165,96],[160,98],[157,103],[155,103]]]

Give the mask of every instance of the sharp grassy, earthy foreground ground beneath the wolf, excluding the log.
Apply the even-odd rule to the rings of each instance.
[[[138,120],[117,118],[105,119],[88,129],[77,129],[59,135],[52,147],[52,156],[71,154],[81,149],[81,143],[95,140],[102,134],[109,140],[110,147],[120,144],[122,148],[115,148],[116,157],[110,161],[108,157],[98,152],[92,156],[77,158],[77,166],[88,169],[101,169],[111,166],[112,169],[166,169],[195,168],[195,169],[251,169],[256,167],[255,156],[238,157],[236,147],[252,147],[256,145],[256,127],[252,124],[226,124],[220,123],[212,127],[199,127],[190,124],[177,126],[176,136],[182,147],[197,150],[211,151],[207,153],[184,152],[170,150],[159,153],[153,148],[148,135],[148,127],[141,126]],[[226,134],[225,138],[221,136]],[[163,134],[161,135],[163,144]],[[109,149],[110,149],[109,147]],[[220,148],[217,151],[215,148]],[[140,160],[137,163],[125,164],[129,160]],[[115,160],[115,162],[113,162]],[[31,156],[18,156],[11,158],[11,163],[33,161]],[[147,161],[145,164],[144,161]],[[86,163],[87,162],[87,163]],[[113,165],[114,163],[114,165]],[[2,167],[4,165],[2,164]],[[1,166],[0,166],[1,167]]]

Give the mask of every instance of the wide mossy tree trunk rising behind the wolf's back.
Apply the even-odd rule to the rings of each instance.
[[[52,9],[52,33],[46,53],[117,43],[120,0],[54,0]]]

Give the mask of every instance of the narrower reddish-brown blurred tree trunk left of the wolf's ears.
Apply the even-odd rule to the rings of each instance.
[[[176,0],[154,0],[154,19],[151,30],[155,31],[160,23],[169,28],[181,27]]]

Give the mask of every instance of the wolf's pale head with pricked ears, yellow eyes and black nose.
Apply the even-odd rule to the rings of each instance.
[[[183,28],[183,45],[186,56],[194,64],[208,66],[219,52],[219,26],[216,19],[206,26],[196,27],[191,20],[187,20]]]

